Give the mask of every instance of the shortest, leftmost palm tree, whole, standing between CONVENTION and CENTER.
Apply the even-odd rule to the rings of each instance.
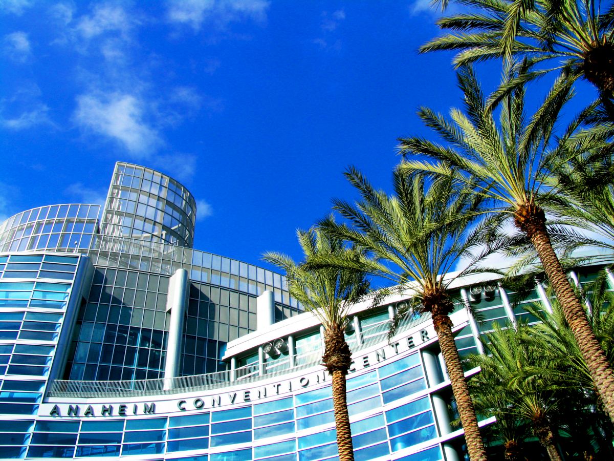
[[[370,283],[360,268],[320,267],[310,269],[306,263],[316,256],[335,256],[354,261],[359,252],[346,248],[342,240],[318,229],[297,230],[305,261],[296,264],[285,254],[268,252],[263,259],[286,271],[290,295],[324,326],[322,361],[332,376],[333,410],[337,431],[339,459],[353,461],[352,433],[346,398],[346,375],[351,365],[351,350],[344,332],[349,308],[365,297]]]

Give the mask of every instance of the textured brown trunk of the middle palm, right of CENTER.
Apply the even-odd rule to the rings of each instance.
[[[432,317],[433,326],[435,326],[439,339],[441,354],[446,363],[446,368],[448,368],[454,400],[456,400],[462,427],[465,430],[465,442],[467,443],[469,457],[471,461],[485,461],[487,459],[486,450],[480,435],[480,427],[478,427],[478,417],[475,414],[473,400],[469,395],[467,381],[465,381],[461,357],[459,357],[456,342],[454,342],[452,321],[448,315],[438,313],[436,309],[432,310]]]

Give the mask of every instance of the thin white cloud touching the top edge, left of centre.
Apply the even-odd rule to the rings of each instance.
[[[224,27],[230,22],[263,21],[270,2],[266,0],[169,0],[168,20],[199,31],[203,22]]]

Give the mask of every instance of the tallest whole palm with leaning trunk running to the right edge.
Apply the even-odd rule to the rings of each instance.
[[[546,227],[544,207],[556,194],[556,189],[548,186],[546,179],[578,155],[569,149],[569,133],[561,138],[554,135],[559,113],[571,96],[571,84],[559,79],[543,104],[530,115],[524,109],[524,88],[519,86],[503,99],[497,123],[493,112],[486,107],[472,69],[462,68],[458,78],[464,92],[464,111],[452,109],[451,120],[428,108],[419,111],[425,124],[446,141],[446,145],[424,138],[403,138],[400,152],[406,161],[400,168],[410,173],[464,181],[475,194],[490,200],[491,216],[511,218],[529,238],[605,408],[614,420],[612,366],[567,280]]]

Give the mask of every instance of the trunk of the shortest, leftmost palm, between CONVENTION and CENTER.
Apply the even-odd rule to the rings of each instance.
[[[349,425],[346,375],[352,363],[352,353],[345,340],[342,325],[330,325],[324,331],[324,366],[333,380],[333,413],[337,430],[337,449],[340,461],[354,461],[352,431]]]

